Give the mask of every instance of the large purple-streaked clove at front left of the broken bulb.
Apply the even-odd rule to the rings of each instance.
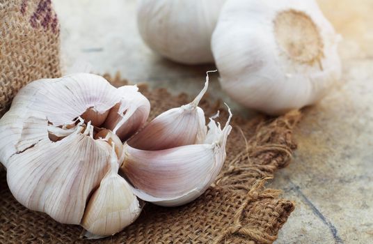
[[[7,180],[15,199],[58,222],[79,224],[86,200],[110,162],[109,144],[97,144],[92,130],[91,125],[88,129],[78,125],[61,141],[42,139],[10,157]]]

